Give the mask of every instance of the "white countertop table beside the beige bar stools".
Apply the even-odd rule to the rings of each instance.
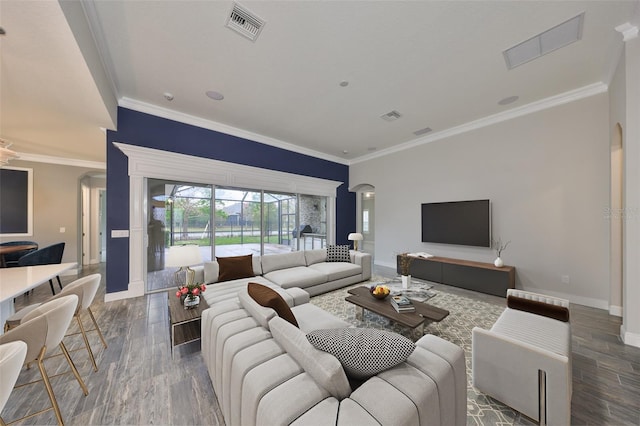
[[[15,313],[14,298],[75,268],[76,265],[76,262],[69,262],[0,268],[0,334],[3,332],[6,319]]]

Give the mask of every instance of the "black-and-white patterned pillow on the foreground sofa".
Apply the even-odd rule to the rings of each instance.
[[[347,376],[367,379],[405,361],[415,343],[397,333],[371,328],[315,330],[307,339],[342,364]]]

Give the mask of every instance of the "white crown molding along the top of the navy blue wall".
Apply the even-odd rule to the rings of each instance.
[[[122,97],[118,101],[118,105],[123,108],[128,108],[134,111],[155,115],[157,117],[166,118],[168,120],[178,121],[180,123],[201,127],[203,129],[213,130],[213,131],[224,133],[227,135],[237,136],[239,138],[260,142],[266,145],[271,145],[276,148],[286,149],[287,151],[293,151],[299,154],[309,155],[311,157],[332,161],[334,163],[349,165],[349,161],[345,160],[344,158],[325,154],[319,151],[314,151],[312,149],[303,148],[303,147],[294,145],[292,143],[282,141],[280,139],[275,139],[269,136],[261,135],[259,133],[250,132],[248,130],[243,130],[237,127],[222,124],[217,121],[196,117],[190,114],[185,114],[185,113],[174,111],[168,108],[159,107],[157,105],[153,105],[147,102],[141,102],[135,99]]]

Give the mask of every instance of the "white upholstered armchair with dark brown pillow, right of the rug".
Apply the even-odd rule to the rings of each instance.
[[[473,329],[473,385],[539,421],[538,372],[546,375],[546,424],[571,423],[571,325],[569,301],[509,289],[512,298],[532,301],[532,313],[507,307],[491,330]],[[522,303],[522,302],[519,302]],[[524,302],[526,303],[526,302]],[[512,305],[513,306],[513,305]],[[554,319],[543,314],[555,313]],[[553,315],[552,315],[553,316]]]

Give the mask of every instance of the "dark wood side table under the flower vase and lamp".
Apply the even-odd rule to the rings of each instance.
[[[191,309],[185,309],[182,301],[169,292],[169,324],[171,325],[171,358],[173,348],[196,340],[200,340],[200,319],[202,311],[209,305],[204,297],[200,297],[200,304]]]

